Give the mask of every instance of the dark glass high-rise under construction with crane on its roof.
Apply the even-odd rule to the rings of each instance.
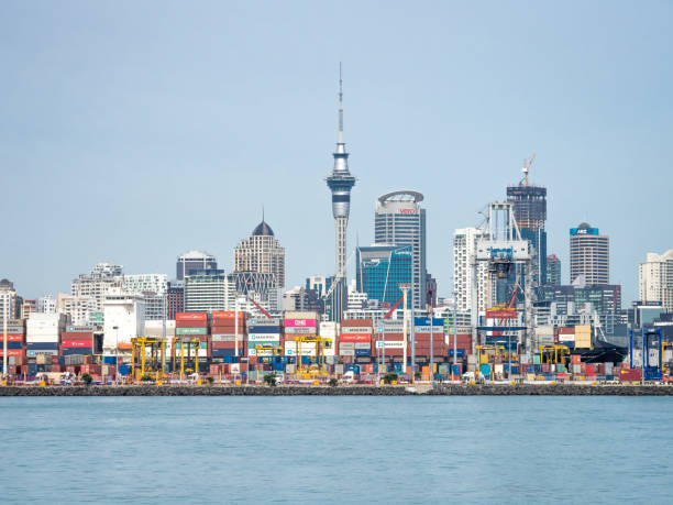
[[[533,160],[534,155],[530,161],[523,161],[523,178],[518,185],[507,187],[507,201],[514,205],[521,239],[528,240],[531,245],[532,285],[540,286],[547,281],[547,188],[528,184],[528,172]],[[514,289],[518,274],[520,272],[511,273],[507,283],[509,290]]]

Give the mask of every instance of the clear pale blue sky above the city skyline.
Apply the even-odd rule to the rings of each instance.
[[[349,254],[378,196],[424,195],[428,270],[537,154],[548,251],[610,237],[625,306],[673,248],[673,3],[12,1],[0,3],[0,277],[34,298],[102,261],[232,270],[265,209],[287,285],[334,271],[324,178],[343,62]],[[349,264],[349,274],[354,274]]]

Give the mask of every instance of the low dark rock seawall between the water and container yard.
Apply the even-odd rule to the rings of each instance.
[[[461,384],[418,386],[3,386],[0,396],[673,396],[673,386]]]

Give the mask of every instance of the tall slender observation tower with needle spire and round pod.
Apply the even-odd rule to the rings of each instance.
[[[343,142],[343,87],[341,67],[339,70],[339,141],[334,156],[334,169],[327,178],[332,191],[332,216],[334,217],[335,240],[335,283],[331,295],[332,320],[341,322],[347,303],[346,292],[346,230],[351,212],[351,189],[355,186],[355,177],[349,172],[349,153]]]

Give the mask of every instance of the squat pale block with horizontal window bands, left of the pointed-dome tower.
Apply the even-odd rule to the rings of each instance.
[[[227,310],[229,279],[223,270],[192,270],[185,276],[185,311]]]

